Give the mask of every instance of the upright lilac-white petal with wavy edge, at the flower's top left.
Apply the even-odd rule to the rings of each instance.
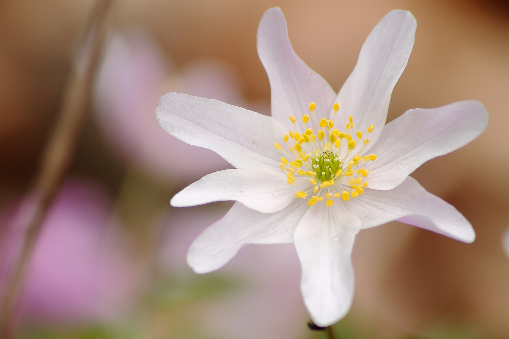
[[[318,119],[327,116],[336,94],[327,81],[307,67],[293,51],[285,16],[279,8],[265,12],[258,26],[257,39],[258,55],[270,81],[272,117],[293,130],[288,117],[293,115],[298,124],[302,124],[301,117],[309,113],[311,102],[317,104]]]

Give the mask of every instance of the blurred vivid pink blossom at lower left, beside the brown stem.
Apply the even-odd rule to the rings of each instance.
[[[71,180],[65,184],[44,218],[27,267],[17,305],[19,320],[91,322],[122,314],[140,275],[120,250],[110,210],[109,197],[93,182]],[[10,252],[2,253],[4,282],[21,243],[16,221],[23,213],[26,210],[3,213],[12,221],[2,237],[2,247]]]

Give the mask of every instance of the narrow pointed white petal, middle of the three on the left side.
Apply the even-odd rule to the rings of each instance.
[[[306,183],[306,188],[308,189]],[[287,207],[295,194],[303,190],[298,181],[287,182],[286,173],[268,168],[227,169],[207,174],[177,193],[174,207],[235,200],[262,213],[274,213]]]

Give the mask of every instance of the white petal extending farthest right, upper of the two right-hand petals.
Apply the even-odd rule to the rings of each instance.
[[[370,188],[390,190],[426,161],[458,149],[481,134],[488,112],[478,101],[406,111],[385,126],[370,152]]]

